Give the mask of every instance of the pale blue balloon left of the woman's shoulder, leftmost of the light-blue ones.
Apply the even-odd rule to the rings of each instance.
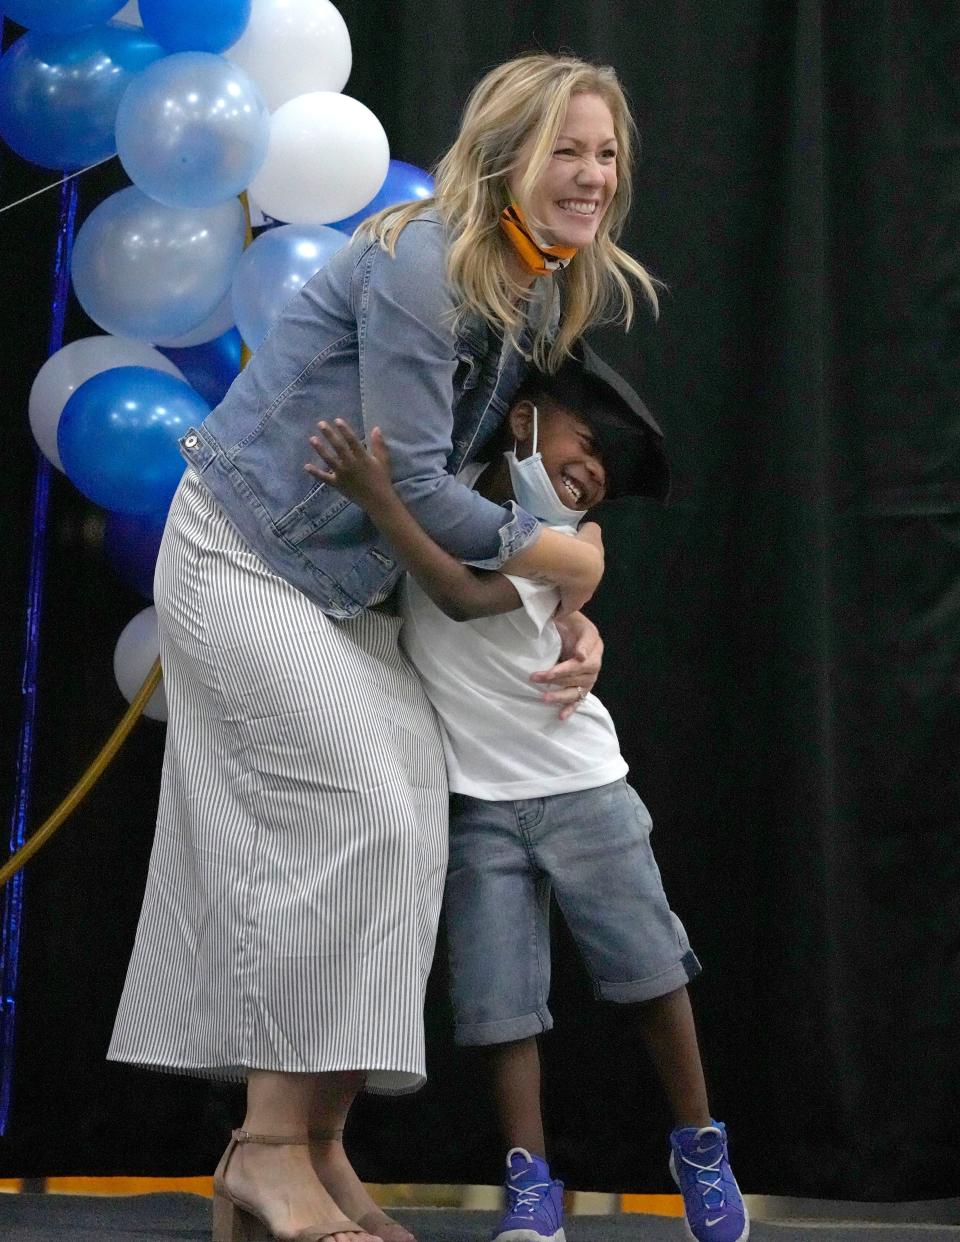
[[[130,185],[104,199],[79,227],[73,291],[91,319],[115,337],[180,337],[226,297],[245,233],[237,199],[166,207]]]

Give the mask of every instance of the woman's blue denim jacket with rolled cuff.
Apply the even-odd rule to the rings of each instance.
[[[532,322],[555,325],[558,302],[554,282],[538,282]],[[303,469],[319,419],[344,419],[360,437],[383,430],[399,494],[460,560],[497,569],[537,538],[537,519],[514,502],[493,504],[456,479],[503,421],[527,360],[482,319],[455,330],[453,308],[435,215],[406,226],[395,258],[355,238],[180,441],[247,543],[332,616],[381,599],[400,566],[366,514]]]

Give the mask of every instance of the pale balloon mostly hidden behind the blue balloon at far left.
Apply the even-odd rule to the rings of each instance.
[[[63,469],[57,450],[57,427],[63,406],[86,380],[113,366],[152,366],[184,379],[179,366],[143,340],[128,337],[83,337],[58,349],[37,371],[30,389],[30,430],[41,453]]]

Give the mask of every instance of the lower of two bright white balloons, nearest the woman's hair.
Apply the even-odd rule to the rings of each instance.
[[[368,107],[313,91],[273,113],[267,158],[250,193],[274,220],[325,225],[366,206],[389,165],[390,143]]]

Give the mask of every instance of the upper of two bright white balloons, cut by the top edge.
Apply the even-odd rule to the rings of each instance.
[[[308,91],[343,91],[353,65],[346,22],[330,0],[253,0],[224,55],[253,78],[271,112]]]

